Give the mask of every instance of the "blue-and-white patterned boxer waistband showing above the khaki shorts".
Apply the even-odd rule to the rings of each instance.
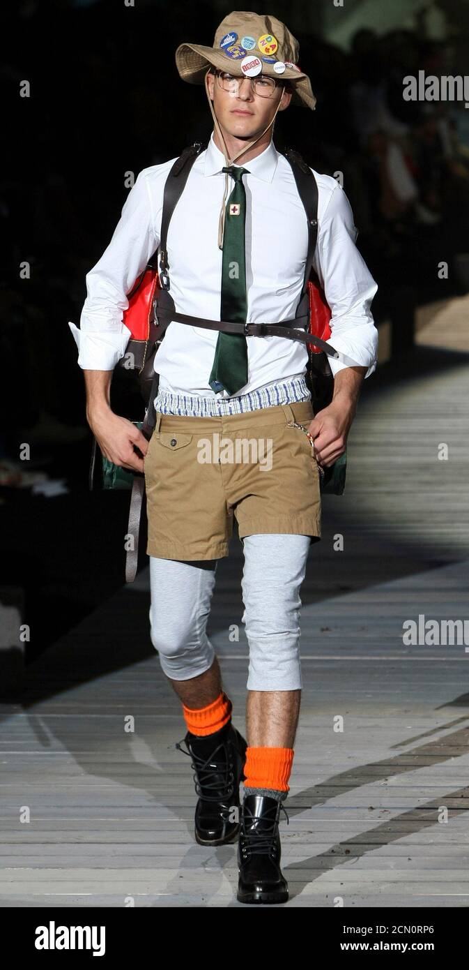
[[[155,398],[155,410],[162,414],[180,414],[184,417],[223,417],[228,414],[243,414],[256,411],[260,407],[274,407],[277,404],[294,404],[310,401],[306,378],[303,375],[287,380],[279,380],[266,387],[260,387],[248,394],[233,398],[202,397],[193,394],[172,394],[159,390]]]

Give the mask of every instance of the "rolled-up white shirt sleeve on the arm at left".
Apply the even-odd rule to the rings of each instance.
[[[159,244],[147,171],[136,179],[108,248],[86,275],[79,330],[69,321],[83,370],[112,371],[131,337],[122,318],[129,307],[126,294]]]

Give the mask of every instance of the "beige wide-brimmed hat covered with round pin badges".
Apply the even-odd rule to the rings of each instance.
[[[217,28],[213,47],[180,44],[175,52],[175,62],[183,81],[203,84],[210,66],[229,71],[234,77],[243,77],[243,58],[248,55],[258,57],[266,77],[289,81],[293,85],[293,104],[314,111],[316,98],[307,74],[299,70],[298,52],[297,39],[276,16],[234,11]],[[284,64],[285,70],[276,68],[277,64]]]

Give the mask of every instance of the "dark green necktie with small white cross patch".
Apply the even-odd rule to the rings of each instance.
[[[242,177],[249,169],[232,165],[224,168],[223,172],[233,175],[234,189],[227,202],[225,216],[220,319],[246,323],[246,193]],[[215,393],[225,388],[229,394],[235,394],[247,384],[247,342],[244,334],[223,334],[220,331],[208,383]]]

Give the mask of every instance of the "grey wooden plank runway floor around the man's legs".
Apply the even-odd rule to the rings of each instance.
[[[421,346],[374,388],[372,377],[346,493],[324,502],[302,590],[287,907],[469,904],[469,637],[403,642],[419,614],[469,620],[468,375],[466,353]],[[244,730],[241,553],[234,539],[219,564],[208,632]],[[2,708],[3,906],[240,905],[235,847],[193,840],[192,773],[174,748],[183,721],[147,611],[144,570]]]

